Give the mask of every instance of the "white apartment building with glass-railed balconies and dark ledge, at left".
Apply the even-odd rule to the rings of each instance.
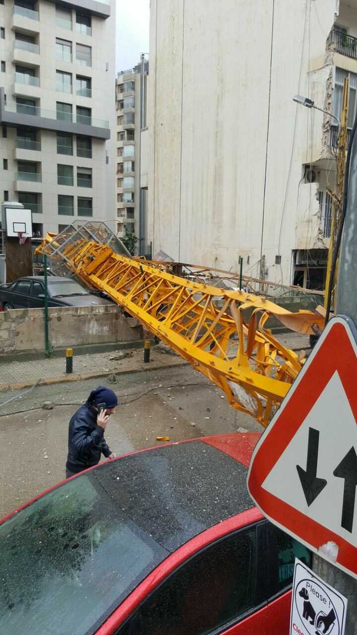
[[[1,200],[40,234],[113,218],[114,0],[0,0],[0,29]]]

